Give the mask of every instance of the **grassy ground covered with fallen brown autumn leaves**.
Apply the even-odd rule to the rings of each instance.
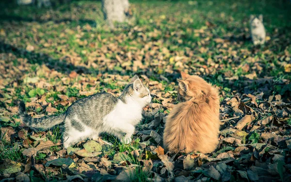
[[[291,177],[289,2],[131,2],[133,20],[104,26],[101,4],[0,13],[0,178],[8,181],[281,181]],[[264,46],[250,41],[248,17],[263,14]],[[200,75],[221,98],[220,145],[211,154],[168,154],[165,116],[177,104],[179,72]],[[102,134],[63,149],[64,126],[24,126],[60,114],[97,92],[119,96],[135,73],[153,103],[130,145]]]

